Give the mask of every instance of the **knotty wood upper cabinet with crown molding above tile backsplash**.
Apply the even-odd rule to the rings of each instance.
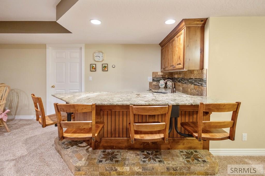
[[[160,42],[162,72],[203,69],[206,20],[183,19]]]

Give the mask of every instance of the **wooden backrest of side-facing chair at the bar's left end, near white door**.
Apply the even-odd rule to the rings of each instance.
[[[34,109],[36,112],[36,121],[39,120],[39,117],[41,117],[41,124],[42,127],[46,127],[46,118],[45,118],[45,112],[44,107],[42,103],[41,97],[36,97],[33,93],[31,94],[31,98],[34,104]]]

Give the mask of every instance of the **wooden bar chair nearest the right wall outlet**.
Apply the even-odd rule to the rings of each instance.
[[[230,139],[235,140],[237,115],[240,102],[236,103],[200,103],[198,111],[198,122],[181,122],[180,125],[187,130],[198,141],[217,141]],[[231,112],[230,121],[203,121],[204,115],[212,112]],[[223,128],[230,128],[229,133]]]

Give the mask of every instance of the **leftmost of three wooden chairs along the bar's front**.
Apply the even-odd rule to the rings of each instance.
[[[59,140],[84,140],[89,144],[89,140],[92,142],[91,148],[95,149],[96,137],[99,136],[100,131],[104,126],[104,122],[96,122],[96,105],[93,104],[58,104],[54,103],[55,113],[57,117],[58,125],[58,137]],[[92,121],[75,121],[75,122],[63,122],[61,112],[91,112]],[[63,128],[66,128],[63,131]]]

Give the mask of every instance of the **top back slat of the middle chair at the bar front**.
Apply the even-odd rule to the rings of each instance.
[[[167,111],[168,106],[133,106],[133,113],[139,115],[158,115]]]

